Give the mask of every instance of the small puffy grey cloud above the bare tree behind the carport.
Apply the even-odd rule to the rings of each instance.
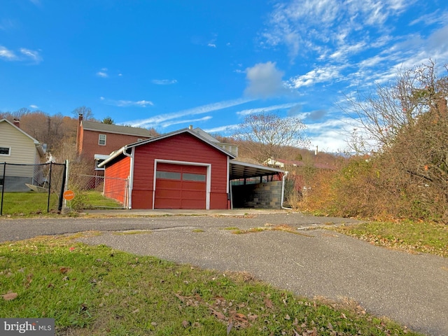
[[[286,93],[281,78],[283,71],[274,62],[258,63],[246,69],[248,85],[244,94],[248,97],[269,98]]]

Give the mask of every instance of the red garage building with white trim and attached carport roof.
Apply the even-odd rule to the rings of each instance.
[[[187,128],[124,146],[100,165],[104,195],[128,209],[229,209],[231,179],[282,172],[236,162],[222,145]],[[120,179],[127,179],[127,192],[117,197]]]

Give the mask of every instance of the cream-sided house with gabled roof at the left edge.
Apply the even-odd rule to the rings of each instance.
[[[29,190],[25,183],[36,183],[38,169],[33,165],[41,163],[44,156],[42,144],[20,130],[19,120],[0,120],[0,185],[5,191]]]

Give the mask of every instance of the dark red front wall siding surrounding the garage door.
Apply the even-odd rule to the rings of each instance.
[[[159,159],[211,164],[210,209],[227,209],[227,158],[188,133],[135,147],[132,208],[152,208],[154,160]]]

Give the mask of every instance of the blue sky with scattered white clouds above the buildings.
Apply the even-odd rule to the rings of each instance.
[[[1,0],[0,111],[27,107],[230,135],[248,113],[300,116],[346,148],[344,95],[448,63],[446,0]]]

